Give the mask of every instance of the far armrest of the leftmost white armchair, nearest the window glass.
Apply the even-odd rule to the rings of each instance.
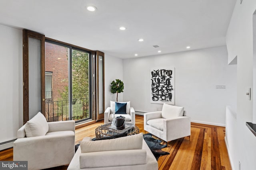
[[[49,126],[48,132],[75,131],[74,120],[48,122],[48,126]]]

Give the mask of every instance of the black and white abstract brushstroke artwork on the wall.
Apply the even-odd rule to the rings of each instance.
[[[152,68],[150,102],[174,105],[174,67]]]

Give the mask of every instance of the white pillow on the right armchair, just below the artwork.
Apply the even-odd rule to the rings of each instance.
[[[175,117],[183,116],[184,107],[173,106],[169,104],[163,105],[162,117],[165,119],[172,119]]]

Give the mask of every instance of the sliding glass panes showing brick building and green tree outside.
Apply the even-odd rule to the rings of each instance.
[[[48,121],[92,118],[91,54],[46,40],[45,90]],[[50,94],[50,95],[49,95]]]

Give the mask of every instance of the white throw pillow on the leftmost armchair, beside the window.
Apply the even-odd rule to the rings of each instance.
[[[48,123],[44,115],[38,112],[25,125],[26,137],[44,136],[49,130]]]

